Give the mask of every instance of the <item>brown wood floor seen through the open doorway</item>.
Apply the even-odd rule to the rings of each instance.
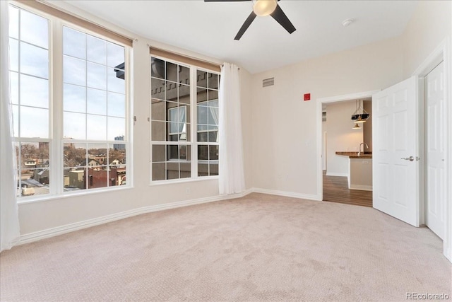
[[[372,192],[349,190],[346,177],[326,176],[323,171],[323,201],[372,207]]]

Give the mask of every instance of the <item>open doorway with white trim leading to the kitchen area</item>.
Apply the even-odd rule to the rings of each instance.
[[[359,100],[364,110],[371,111],[371,95],[376,91],[319,99],[322,114],[319,125],[321,140],[320,200],[372,207],[371,120],[353,129],[351,117]],[[367,132],[364,135],[364,129]],[[361,145],[361,156],[357,157]],[[338,155],[336,152],[344,152]],[[365,157],[363,153],[366,153]],[[350,158],[352,156],[352,158]],[[318,182],[319,183],[319,182]]]

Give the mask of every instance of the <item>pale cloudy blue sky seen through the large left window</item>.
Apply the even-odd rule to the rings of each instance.
[[[10,8],[9,17],[14,135],[47,139],[48,21],[17,8]],[[114,71],[123,62],[124,47],[64,27],[64,137],[114,140],[126,134],[125,81]]]

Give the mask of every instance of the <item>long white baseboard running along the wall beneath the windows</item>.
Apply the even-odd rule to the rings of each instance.
[[[138,209],[131,209],[129,211],[123,211],[121,213],[117,213],[117,214],[112,214],[112,215],[107,215],[107,216],[102,216],[102,217],[98,217],[95,219],[88,219],[85,221],[79,221],[76,223],[69,223],[66,224],[64,226],[57,226],[56,228],[47,228],[45,230],[42,231],[37,231],[37,232],[33,232],[33,233],[28,233],[28,234],[24,234],[21,235],[18,243],[16,243],[16,245],[22,245],[25,243],[31,243],[37,240],[42,240],[45,238],[50,238],[50,237],[54,237],[54,236],[59,236],[65,233],[70,233],[73,231],[78,231],[81,230],[83,228],[90,228],[91,226],[98,226],[100,224],[103,223],[107,223],[107,222],[112,222],[112,221],[117,221],[120,219],[125,219],[125,218],[129,218],[131,216],[136,216],[136,215],[140,215],[140,214],[145,214],[145,213],[150,213],[153,211],[163,211],[166,209],[175,209],[175,208],[179,208],[179,207],[186,207],[186,206],[191,206],[194,204],[205,204],[208,202],[218,202],[220,200],[225,200],[225,199],[234,199],[234,198],[239,198],[239,197],[244,197],[247,194],[253,192],[252,189],[246,190],[242,193],[239,194],[231,194],[231,195],[222,195],[222,196],[214,196],[214,197],[205,197],[205,198],[198,198],[198,199],[191,199],[191,200],[184,200],[182,202],[170,202],[167,204],[157,204],[154,206],[149,206],[149,207],[142,207],[142,208],[138,208]]]

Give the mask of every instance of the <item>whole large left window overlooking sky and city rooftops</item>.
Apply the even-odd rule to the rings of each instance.
[[[129,45],[35,8],[9,9],[19,200],[126,185]]]

